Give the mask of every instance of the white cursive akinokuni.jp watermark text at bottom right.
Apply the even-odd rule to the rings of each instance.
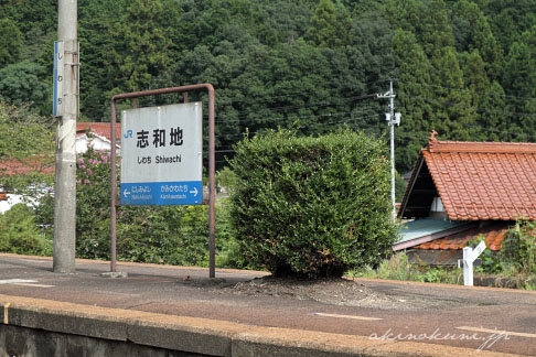
[[[406,327],[407,328],[407,327]],[[412,333],[398,333],[395,334],[392,328],[387,329],[383,335],[378,335],[376,333],[371,334],[368,336],[371,339],[383,339],[383,340],[414,340],[414,342],[432,342],[432,340],[475,340],[480,342],[481,345],[476,348],[478,350],[490,349],[493,345],[495,345],[501,339],[508,340],[510,336],[501,331],[496,333],[492,333],[490,335],[479,335],[478,333],[473,334],[451,334],[447,333],[443,334],[440,332],[440,328],[436,328],[432,334],[421,333],[421,334],[412,334]]]

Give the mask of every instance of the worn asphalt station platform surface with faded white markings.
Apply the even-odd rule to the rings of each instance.
[[[536,356],[536,292],[355,279],[350,290],[331,292],[329,284],[315,299],[318,291],[293,294],[289,283],[279,291],[272,281],[265,284],[266,272],[218,269],[210,279],[204,268],[122,262],[117,270],[128,278],[101,278],[109,271],[103,261],[77,260],[76,273],[56,274],[51,258],[0,255],[0,294],[298,331],[320,339],[412,343],[422,350],[414,356]],[[356,295],[337,295],[349,291]]]

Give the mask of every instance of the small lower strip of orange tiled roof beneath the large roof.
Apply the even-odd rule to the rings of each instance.
[[[494,223],[484,228],[472,228],[462,232],[447,236],[440,239],[421,244],[414,249],[425,250],[459,250],[465,247],[465,244],[473,240],[480,235],[485,236],[486,246],[494,251],[501,249],[501,242],[507,230],[507,223]]]

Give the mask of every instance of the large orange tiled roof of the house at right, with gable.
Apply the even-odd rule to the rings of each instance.
[[[415,187],[422,195],[427,175],[451,220],[536,220],[535,143],[439,141],[432,134],[414,169],[400,216],[418,203],[431,203],[432,187],[421,196],[426,199],[416,203],[417,193],[410,197],[418,180],[421,186]]]

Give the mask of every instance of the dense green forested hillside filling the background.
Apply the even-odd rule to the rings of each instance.
[[[46,115],[56,7],[0,1],[0,95]],[[219,161],[246,130],[380,136],[389,78],[398,171],[432,129],[536,142],[534,0],[78,0],[78,17],[82,120],[109,120],[114,94],[208,82]]]

